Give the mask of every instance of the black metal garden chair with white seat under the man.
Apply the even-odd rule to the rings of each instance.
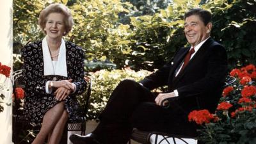
[[[226,87],[236,81],[235,77],[227,76],[226,81],[223,87]],[[172,98],[164,99],[161,102],[161,106],[164,108],[169,107],[169,102]],[[168,101],[168,104],[164,106],[164,102]],[[155,132],[155,131],[140,131],[139,129],[134,128],[132,131],[131,139],[134,141],[138,141],[143,144],[197,144],[197,138],[193,136],[181,136],[175,134],[166,134],[163,132]],[[129,141],[131,144],[131,141]]]

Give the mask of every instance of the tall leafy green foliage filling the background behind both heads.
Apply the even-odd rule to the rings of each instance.
[[[83,47],[86,60],[109,60],[119,69],[129,65],[134,70],[151,71],[187,44],[184,13],[200,7],[213,14],[211,35],[227,49],[229,68],[255,64],[255,0],[173,0],[167,7],[169,0],[151,0],[147,4],[131,0],[134,6],[124,1],[128,0],[13,1],[13,52],[19,53],[24,45],[44,37],[37,20],[45,6],[64,3],[72,11],[75,22],[65,39]],[[144,15],[145,12],[150,15]],[[120,23],[121,14],[129,18],[129,23]]]

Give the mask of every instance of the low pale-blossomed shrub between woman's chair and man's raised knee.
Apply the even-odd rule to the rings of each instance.
[[[130,68],[123,70],[99,70],[92,74],[92,95],[88,109],[88,118],[97,119],[100,112],[105,108],[109,96],[116,88],[118,83],[124,79],[133,79],[140,81],[145,76],[151,74],[147,70],[135,72]]]

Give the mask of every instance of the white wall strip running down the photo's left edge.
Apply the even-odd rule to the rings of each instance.
[[[12,0],[0,1],[0,62],[12,67]],[[4,83],[9,91],[1,92],[5,95],[4,111],[0,113],[0,143],[12,143],[12,83],[1,74],[0,84]]]

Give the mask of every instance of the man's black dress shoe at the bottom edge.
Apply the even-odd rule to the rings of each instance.
[[[72,134],[69,137],[69,140],[73,144],[102,144],[97,140],[97,136],[95,136],[95,134],[93,133],[87,134],[86,136],[81,136],[79,134]]]

